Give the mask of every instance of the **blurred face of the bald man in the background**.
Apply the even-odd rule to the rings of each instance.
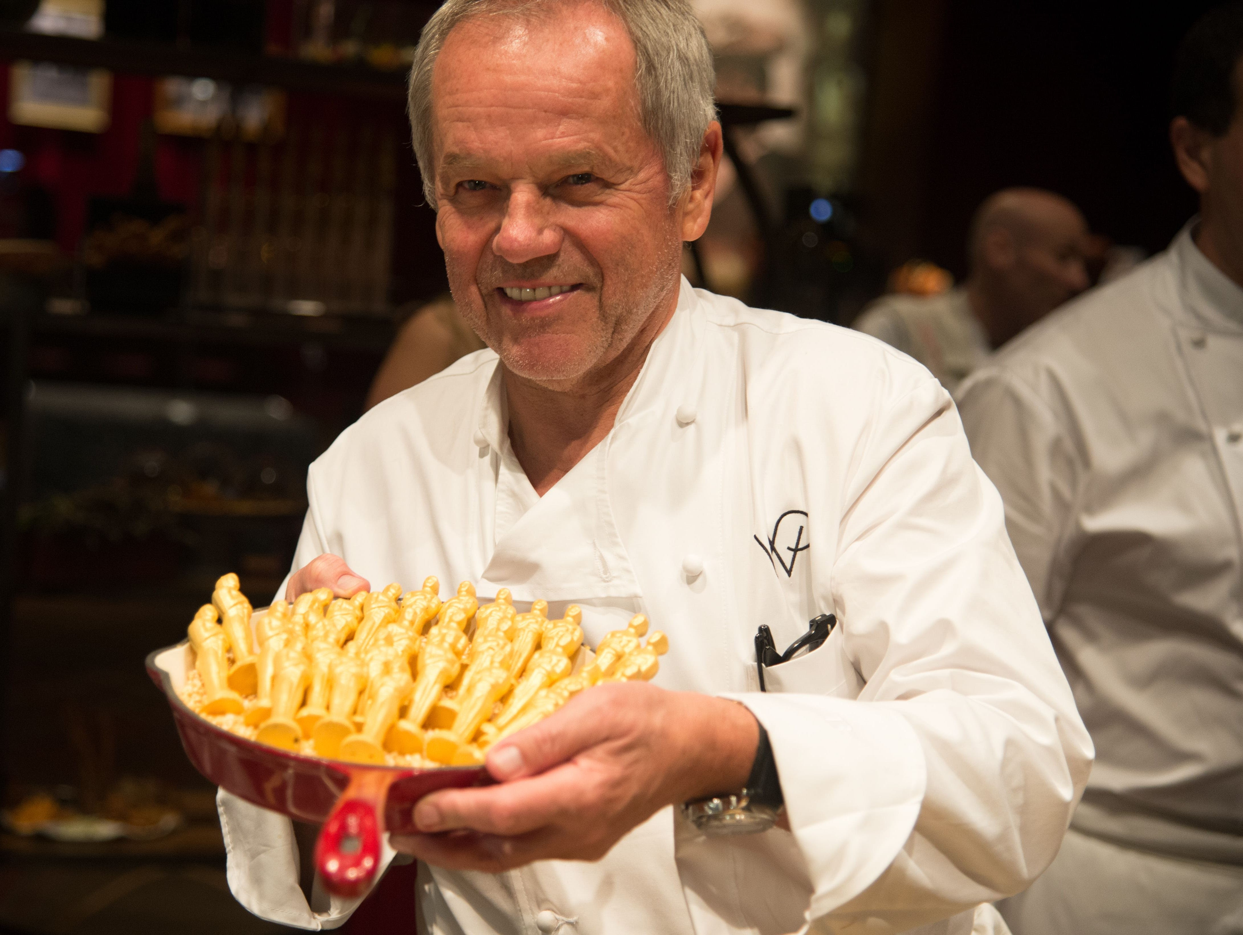
[[[1014,235],[1011,291],[1021,296],[1017,331],[1034,325],[1088,288],[1088,224],[1069,203],[1039,205]],[[1016,331],[1016,333],[1017,333]]]

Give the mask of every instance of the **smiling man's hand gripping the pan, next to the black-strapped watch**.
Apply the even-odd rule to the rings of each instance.
[[[487,771],[501,785],[431,793],[414,809],[424,833],[392,844],[438,867],[488,873],[598,860],[660,808],[741,788],[758,742],[755,716],[733,701],[600,685],[492,746]]]

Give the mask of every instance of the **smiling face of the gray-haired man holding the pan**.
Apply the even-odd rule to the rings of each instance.
[[[467,20],[436,61],[449,285],[521,377],[598,373],[676,301],[679,214],[640,123],[634,67],[624,25],[594,2]]]

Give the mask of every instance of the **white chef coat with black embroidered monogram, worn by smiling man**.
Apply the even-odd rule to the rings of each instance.
[[[562,935],[965,934],[1053,858],[1090,741],[922,367],[684,280],[613,430],[542,497],[506,426],[491,351],[382,403],[312,466],[295,567],[332,552],[374,587],[574,602],[588,643],[641,610],[669,634],[656,684],[764,725],[792,833],[711,839],[666,808],[598,863],[423,867],[421,930],[536,933],[546,913]],[[828,643],[772,670],[803,694],[759,694],[757,625],[784,647],[825,612]],[[349,903],[295,895],[287,819],[221,802],[237,898],[339,924]]]

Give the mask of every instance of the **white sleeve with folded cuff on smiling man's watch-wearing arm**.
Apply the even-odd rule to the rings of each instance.
[[[772,741],[812,931],[905,931],[1024,889],[1091,762],[948,395],[924,378],[873,424],[840,523],[812,538],[837,540],[813,567],[861,693],[736,696]]]

